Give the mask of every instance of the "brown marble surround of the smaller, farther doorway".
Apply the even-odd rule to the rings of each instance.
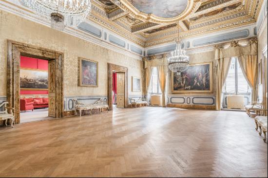
[[[108,63],[108,105],[113,110],[113,72],[124,73],[125,76],[125,108],[128,107],[128,68]],[[118,93],[117,93],[118,97]]]

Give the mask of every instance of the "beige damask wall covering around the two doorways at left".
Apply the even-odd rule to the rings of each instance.
[[[128,68],[129,95],[142,95],[143,62],[38,23],[0,11],[0,96],[6,95],[6,40],[35,45],[64,53],[64,96],[107,95],[107,63]],[[78,87],[78,57],[98,61],[98,87]],[[131,91],[131,77],[141,77],[141,92]]]

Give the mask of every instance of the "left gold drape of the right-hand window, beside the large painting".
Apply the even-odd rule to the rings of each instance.
[[[217,92],[216,92],[216,110],[221,110],[222,103],[222,88],[227,78],[227,74],[230,68],[231,58],[218,59],[217,65]]]

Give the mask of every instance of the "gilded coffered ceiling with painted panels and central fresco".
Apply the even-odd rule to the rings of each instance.
[[[178,27],[187,38],[255,23],[262,1],[92,0],[89,18],[150,47],[174,40]]]

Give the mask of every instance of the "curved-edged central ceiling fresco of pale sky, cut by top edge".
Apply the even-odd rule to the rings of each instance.
[[[188,0],[129,0],[140,12],[161,18],[180,15],[187,7]]]

